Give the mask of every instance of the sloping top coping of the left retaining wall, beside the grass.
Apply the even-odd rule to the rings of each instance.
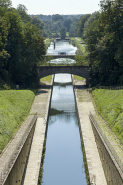
[[[11,154],[9,160],[6,162],[5,166],[3,167],[3,170],[0,172],[0,185],[3,185],[5,180],[7,179],[35,121],[37,120],[37,113],[33,116],[30,124],[28,125],[28,127],[26,128],[22,138],[20,139],[20,141],[18,142],[16,148],[14,149],[13,153]]]

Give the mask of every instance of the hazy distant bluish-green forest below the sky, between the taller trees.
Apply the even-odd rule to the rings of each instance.
[[[77,21],[84,14],[78,15],[30,15],[38,17],[44,23],[43,37],[57,37],[60,36],[61,30],[65,29],[65,33],[69,32],[70,37],[77,36]]]

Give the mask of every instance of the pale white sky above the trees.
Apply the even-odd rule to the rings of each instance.
[[[23,4],[28,14],[87,14],[100,9],[100,0],[11,0],[14,8]]]

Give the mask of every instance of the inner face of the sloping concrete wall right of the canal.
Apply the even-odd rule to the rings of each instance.
[[[92,123],[92,121],[91,121]],[[102,136],[98,132],[97,128],[92,123],[95,140],[97,143],[100,159],[104,169],[107,185],[122,185],[123,173],[114,159],[111,151],[103,140]]]

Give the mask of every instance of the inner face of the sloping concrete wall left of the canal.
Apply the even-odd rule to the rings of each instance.
[[[34,129],[35,129],[35,124],[33,125],[21,149],[21,152],[19,153],[19,156],[16,162],[14,163],[14,166],[11,172],[9,173],[4,185],[21,185],[24,169],[26,166],[26,161],[27,161],[28,154],[29,154],[29,149],[31,146],[32,138],[33,138]]]

